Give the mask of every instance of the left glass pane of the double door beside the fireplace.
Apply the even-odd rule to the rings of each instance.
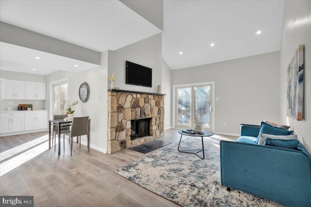
[[[191,88],[177,89],[178,124],[191,126]]]

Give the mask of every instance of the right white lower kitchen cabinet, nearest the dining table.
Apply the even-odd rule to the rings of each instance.
[[[48,111],[25,111],[25,131],[48,128]]]

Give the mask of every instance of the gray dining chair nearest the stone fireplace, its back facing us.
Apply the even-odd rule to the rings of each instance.
[[[88,134],[88,116],[84,117],[73,117],[71,130],[70,132],[64,133],[64,136],[69,136],[70,139],[70,156],[72,156],[72,145],[73,145],[73,137],[80,138],[80,148],[81,148],[81,136],[87,136],[87,148],[89,151],[89,134]]]

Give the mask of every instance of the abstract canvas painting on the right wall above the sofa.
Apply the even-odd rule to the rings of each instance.
[[[299,45],[287,67],[287,113],[286,115],[302,121],[303,113],[303,74],[304,45]]]

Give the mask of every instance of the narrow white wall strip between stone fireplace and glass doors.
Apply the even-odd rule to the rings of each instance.
[[[171,85],[171,69],[162,58],[162,94],[164,97],[164,129],[172,128],[172,85]]]

